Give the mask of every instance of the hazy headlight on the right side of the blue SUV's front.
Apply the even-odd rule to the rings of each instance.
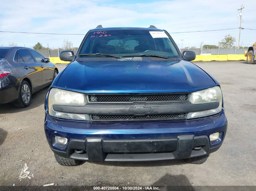
[[[211,110],[206,110],[206,111],[187,113],[187,119],[205,117],[205,116],[209,116],[209,115],[213,115],[221,112],[222,93],[221,93],[221,88],[219,86],[193,92],[189,95],[188,100],[193,104],[219,102],[219,107]]]

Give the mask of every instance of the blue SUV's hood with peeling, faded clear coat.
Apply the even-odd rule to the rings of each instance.
[[[216,83],[206,72],[184,60],[75,61],[56,84],[90,94],[192,92],[213,86]]]

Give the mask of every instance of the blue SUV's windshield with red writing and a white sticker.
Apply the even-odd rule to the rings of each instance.
[[[98,30],[91,31],[83,44],[80,56],[104,53],[115,56],[143,54],[179,58],[178,51],[165,31],[149,30]]]

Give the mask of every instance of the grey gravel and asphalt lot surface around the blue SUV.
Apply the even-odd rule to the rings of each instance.
[[[204,164],[173,160],[85,162],[63,167],[55,161],[45,138],[45,88],[33,95],[27,108],[0,105],[0,185],[256,186],[256,65],[242,61],[196,64],[220,82],[228,119],[223,145]],[[60,69],[64,66],[58,65]],[[31,179],[20,181],[25,163]]]

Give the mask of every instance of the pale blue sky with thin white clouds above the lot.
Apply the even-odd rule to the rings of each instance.
[[[0,31],[86,34],[103,27],[149,27],[165,29],[181,47],[218,45],[230,33],[237,39],[238,29],[175,33],[198,30],[238,28],[237,9],[244,5],[241,27],[256,29],[255,6],[244,0],[0,0]],[[242,46],[256,41],[256,30],[241,30]],[[78,47],[84,35],[50,35],[0,32],[0,46],[10,42],[33,47],[37,42],[49,48],[62,46],[68,39]],[[183,40],[183,41],[181,41]]]

